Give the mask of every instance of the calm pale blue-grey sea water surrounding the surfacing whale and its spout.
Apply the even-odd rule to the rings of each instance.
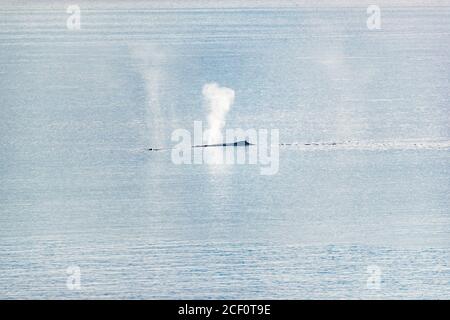
[[[2,6],[0,298],[450,298],[450,9],[381,9]],[[146,151],[210,82],[277,174]]]

